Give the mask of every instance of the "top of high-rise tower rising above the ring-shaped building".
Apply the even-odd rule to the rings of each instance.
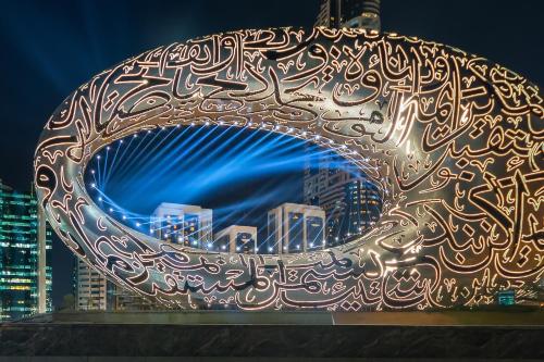
[[[380,0],[321,0],[316,26],[380,30]]]

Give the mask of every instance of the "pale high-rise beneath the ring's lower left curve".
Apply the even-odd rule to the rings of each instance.
[[[83,260],[77,259],[75,264],[75,309],[106,311],[108,280]]]

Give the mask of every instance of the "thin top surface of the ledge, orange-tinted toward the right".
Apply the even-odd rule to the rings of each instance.
[[[441,312],[126,311],[58,312],[12,324],[541,326],[544,310]]]

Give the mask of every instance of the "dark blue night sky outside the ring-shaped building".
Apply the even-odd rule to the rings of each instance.
[[[318,0],[5,1],[0,12],[0,178],[32,182],[49,115],[92,75],[145,50],[240,28],[311,26]],[[544,82],[544,1],[382,0],[382,28],[454,46]],[[71,291],[72,261],[55,241],[53,300]]]

